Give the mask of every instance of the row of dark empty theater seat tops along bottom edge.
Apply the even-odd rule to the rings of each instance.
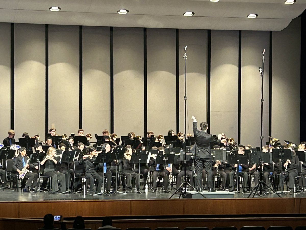
[[[40,230],[40,229],[38,229]],[[43,229],[41,229],[43,230]],[[45,230],[45,229],[44,229]],[[60,230],[59,228],[54,230]],[[68,228],[67,230],[92,230],[91,228]],[[97,230],[122,230],[121,228],[98,228]],[[151,228],[127,228],[126,230],[151,230]],[[155,230],[181,230],[180,228],[155,228]],[[190,227],[184,228],[184,230],[210,230],[206,227]],[[238,230],[236,227],[215,227],[211,230]],[[244,226],[240,228],[240,230],[266,230],[266,228],[262,226]],[[290,226],[270,226],[267,230],[293,230]],[[295,230],[306,230],[306,226],[297,226]]]

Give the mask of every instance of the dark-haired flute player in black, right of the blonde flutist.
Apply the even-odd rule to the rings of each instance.
[[[95,179],[98,182],[96,193],[101,192],[103,178],[96,172],[95,159],[97,157],[97,152],[94,147],[88,148],[88,155],[84,155],[82,159],[80,159],[80,164],[85,165],[85,177],[89,179],[89,195],[94,194],[94,181]]]

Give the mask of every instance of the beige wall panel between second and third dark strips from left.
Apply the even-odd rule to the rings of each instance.
[[[49,25],[49,127],[79,128],[79,27]]]

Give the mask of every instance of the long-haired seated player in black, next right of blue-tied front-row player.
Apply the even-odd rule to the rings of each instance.
[[[130,163],[132,156],[132,148],[130,145],[125,147],[123,160],[118,160],[118,164],[122,164],[122,175],[126,176],[126,193],[132,191],[132,178],[135,179],[136,189],[139,191],[139,175],[132,171],[132,163]]]

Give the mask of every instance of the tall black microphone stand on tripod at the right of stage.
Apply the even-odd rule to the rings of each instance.
[[[264,73],[264,63],[265,63],[265,49],[263,50],[262,54],[263,54],[263,68],[259,67],[259,73],[261,76],[261,117],[260,117],[260,148],[262,148],[263,146],[263,73]],[[238,167],[238,166],[237,166]],[[271,187],[269,187],[263,180],[262,180],[262,172],[263,172],[263,151],[260,149],[260,179],[258,184],[254,187],[254,189],[251,191],[251,193],[248,195],[248,198],[252,195],[253,191],[254,191],[254,195],[255,196],[257,190],[259,189],[259,196],[263,196],[262,192],[263,192],[263,185],[266,185],[268,188],[270,188],[273,193],[277,194]],[[238,180],[238,175],[237,175],[237,180]],[[267,195],[267,194],[266,194]],[[279,197],[281,197],[279,194],[277,194]]]

